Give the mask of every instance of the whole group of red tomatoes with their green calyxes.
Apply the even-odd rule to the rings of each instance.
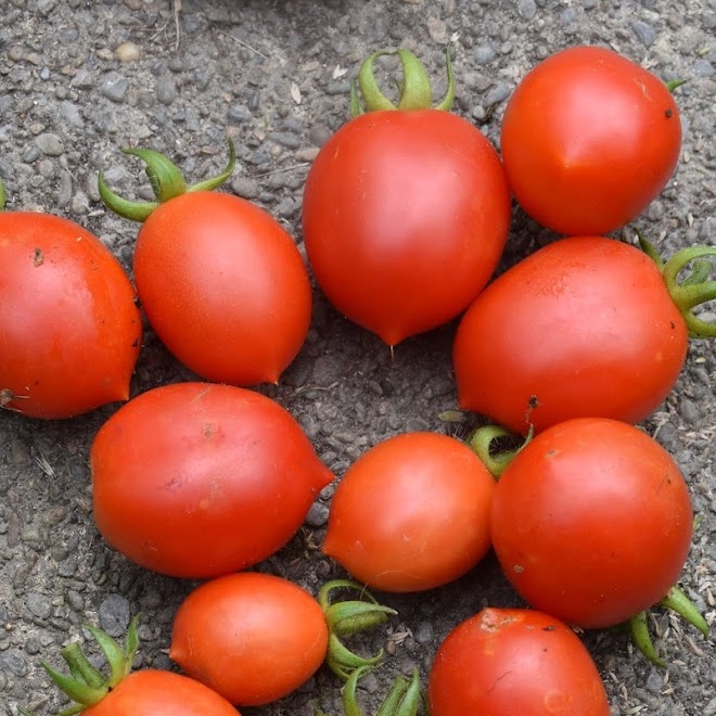
[[[395,104],[374,76],[385,54],[404,69]],[[549,57],[506,107],[501,157],[449,112],[449,59],[448,80],[433,107],[413,54],[368,57],[358,78],[365,107],[356,92],[355,117],[309,171],[303,233],[327,297],[389,346],[462,316],[460,407],[497,427],[468,442],[404,433],[368,450],[337,484],[322,550],[361,585],[399,592],[443,586],[495,550],[533,609],[486,609],[456,626],[431,670],[433,716],[606,716],[573,627],[628,623],[655,662],[651,606],[707,632],[675,587],[692,536],[688,486],[636,424],[673,388],[689,334],[716,335],[693,312],[715,297],[707,257],[716,250],[663,263],[644,240],[605,235],[648,206],[678,161],[673,88],[649,72],[601,48]],[[314,599],[247,571],[293,537],[335,478],[294,418],[250,389],[277,382],[301,350],[308,269],[269,214],[215,191],[233,169],[232,145],[218,177],[190,187],[165,156],[129,152],[146,164],[156,201],[126,201],[102,176],[100,193],[142,222],[136,292],[75,223],[0,217],[0,405],[56,419],[127,400],[141,311],[199,376],[128,400],[90,451],[106,541],[149,570],[206,580],[179,609],[170,649],[193,679],[128,676],[136,622],[124,649],[92,630],[108,678],[76,649],[63,653],[73,678],[48,670],[95,716],[123,703],[159,713],[157,696],[172,714],[208,715],[280,699],[327,662],[346,680],[346,713],[360,713],[356,685],[380,654],[360,657],[341,637],[392,610],[372,598],[332,603],[333,588],[353,583]],[[489,282],[512,197],[562,238]],[[496,456],[506,435],[521,445]],[[418,713],[420,691],[417,675],[398,679],[380,713]]]

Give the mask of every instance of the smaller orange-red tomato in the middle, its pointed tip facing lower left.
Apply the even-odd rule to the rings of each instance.
[[[362,455],[338,483],[323,552],[385,591],[438,587],[489,549],[495,481],[462,442],[406,433]]]

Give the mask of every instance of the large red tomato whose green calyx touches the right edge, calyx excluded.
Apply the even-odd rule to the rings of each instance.
[[[562,239],[498,277],[456,333],[460,405],[526,434],[578,417],[638,423],[688,350],[654,261],[600,236]]]

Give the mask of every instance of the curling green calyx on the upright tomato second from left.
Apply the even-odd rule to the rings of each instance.
[[[179,167],[161,152],[151,149],[131,149],[122,150],[125,154],[138,156],[144,164],[146,176],[150,180],[152,191],[156,201],[154,202],[135,202],[123,199],[113,192],[104,179],[104,174],[100,171],[97,180],[100,197],[104,205],[115,214],[130,219],[132,221],[144,221],[152,212],[176,196],[197,191],[214,191],[218,189],[233,172],[236,166],[236,152],[233,140],[229,138],[229,162],[223,170],[215,177],[209,177],[191,186],[187,186],[184,176]]]

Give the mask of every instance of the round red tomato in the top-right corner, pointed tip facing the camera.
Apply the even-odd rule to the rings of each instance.
[[[666,85],[612,50],[576,47],[532,69],[510,98],[500,149],[524,210],[566,235],[636,218],[674,174],[679,111]]]

